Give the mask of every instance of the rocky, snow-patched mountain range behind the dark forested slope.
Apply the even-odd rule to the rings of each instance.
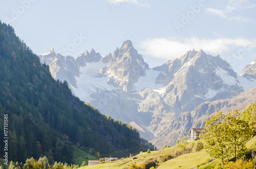
[[[256,60],[238,75],[219,55],[202,49],[155,68],[149,68],[130,40],[105,57],[94,49],[76,59],[53,49],[38,57],[55,79],[68,81],[77,97],[136,127],[158,148],[175,144],[190,127],[202,126],[202,119],[221,106],[207,110],[206,105],[229,102],[256,86]]]

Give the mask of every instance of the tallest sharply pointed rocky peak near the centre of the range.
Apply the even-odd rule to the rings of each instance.
[[[142,55],[127,40],[120,49],[116,48],[109,66],[102,68],[100,73],[110,76],[109,83],[121,87],[123,91],[132,92],[134,83],[140,76],[145,76],[148,69]]]

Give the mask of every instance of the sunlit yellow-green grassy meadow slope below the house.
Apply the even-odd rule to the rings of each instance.
[[[246,144],[246,147],[248,148],[248,151],[250,150],[256,150],[256,136],[252,137]],[[137,163],[137,162],[146,162],[147,160],[151,160],[160,156],[166,156],[166,155],[173,155],[174,152],[178,150],[176,147],[169,147],[165,148],[160,151],[152,151],[149,154],[146,154],[145,152],[142,154],[138,154],[132,158],[126,158],[123,160],[117,160],[117,161],[110,161],[110,162],[102,162],[97,165],[92,166],[84,166],[81,167],[81,169],[97,169],[97,168],[128,168],[130,164]],[[210,169],[212,168],[216,163],[217,160],[211,161],[207,163],[210,160],[210,156],[206,153],[205,150],[201,150],[199,152],[195,153],[188,153],[184,155],[180,155],[177,158],[170,159],[164,163],[162,163],[158,168],[166,168],[166,169],[172,169],[172,168],[194,168],[197,167],[201,169]]]

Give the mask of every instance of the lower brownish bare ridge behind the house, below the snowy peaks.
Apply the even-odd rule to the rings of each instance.
[[[152,143],[160,146],[173,144],[173,140],[180,140],[184,135],[187,135],[190,128],[202,128],[204,121],[208,120],[217,109],[224,113],[232,111],[232,108],[244,110],[249,103],[256,102],[255,91],[256,87],[242,92],[236,97],[206,101],[196,106],[190,112],[183,112],[172,122],[172,125],[166,125],[166,127],[161,128],[160,134],[152,140]],[[161,144],[159,144],[160,139]]]

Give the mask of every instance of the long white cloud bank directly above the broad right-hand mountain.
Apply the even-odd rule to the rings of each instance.
[[[250,46],[256,48],[256,39],[243,38],[218,38],[218,39],[199,39],[197,37],[177,39],[177,38],[155,38],[147,39],[141,42],[143,54],[152,55],[162,59],[175,59],[181,57],[188,50],[203,49],[205,52],[212,54],[221,54],[222,52],[231,52],[232,49]],[[250,42],[251,41],[251,42]]]

